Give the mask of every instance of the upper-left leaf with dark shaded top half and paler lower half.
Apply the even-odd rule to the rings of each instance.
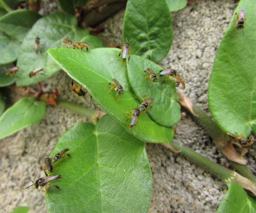
[[[40,17],[40,14],[31,10],[15,10],[0,18],[0,30],[22,42],[29,29]]]

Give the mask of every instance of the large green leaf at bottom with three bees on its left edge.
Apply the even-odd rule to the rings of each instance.
[[[54,175],[61,190],[48,187],[47,208],[55,212],[147,212],[152,176],[143,141],[109,115],[96,127],[79,123],[59,139],[52,156],[69,149]]]

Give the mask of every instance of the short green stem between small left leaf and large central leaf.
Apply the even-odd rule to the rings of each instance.
[[[97,123],[97,121],[99,121],[99,119],[103,115],[106,114],[105,112],[102,112],[99,110],[81,107],[81,106],[79,106],[77,104],[73,104],[69,101],[65,101],[65,100],[61,100],[61,99],[57,99],[56,101],[57,101],[58,106],[63,107],[65,109],[69,109],[73,112],[76,112],[80,115],[90,118],[94,124]]]

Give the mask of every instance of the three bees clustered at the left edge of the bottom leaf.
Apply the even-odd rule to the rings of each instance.
[[[60,187],[56,186],[56,185],[53,185],[53,184],[49,184],[50,181],[54,181],[54,180],[57,180],[59,178],[63,178],[63,176],[61,175],[56,175],[56,176],[53,176],[53,175],[48,175],[47,171],[51,174],[53,172],[53,165],[55,165],[55,163],[57,161],[59,161],[61,158],[65,158],[65,156],[70,156],[70,154],[65,154],[69,149],[65,149],[65,150],[62,150],[60,153],[57,153],[53,158],[45,158],[44,159],[44,165],[45,167],[43,167],[43,170],[44,170],[44,173],[45,173],[45,177],[42,177],[42,178],[39,178],[38,180],[36,180],[35,182],[32,181],[32,185],[26,187],[29,188],[31,186],[35,186],[36,189],[38,189],[38,187],[41,188],[41,191],[42,192],[45,192],[47,191],[47,186],[52,186],[52,187],[55,187],[56,189],[60,189]],[[45,191],[43,190],[45,187]]]

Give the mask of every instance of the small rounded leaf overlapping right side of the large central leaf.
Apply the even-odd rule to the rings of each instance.
[[[129,81],[137,97],[143,97],[147,94],[147,98],[154,98],[154,107],[148,111],[150,117],[165,127],[172,127],[177,124],[181,114],[180,104],[177,103],[179,95],[176,92],[175,79],[165,83],[163,81],[152,83],[150,78],[143,81],[148,76],[147,72],[143,72],[145,69],[151,68],[157,74],[163,68],[136,55],[131,57],[130,62],[127,63],[127,68]],[[161,83],[163,84],[161,85]]]

